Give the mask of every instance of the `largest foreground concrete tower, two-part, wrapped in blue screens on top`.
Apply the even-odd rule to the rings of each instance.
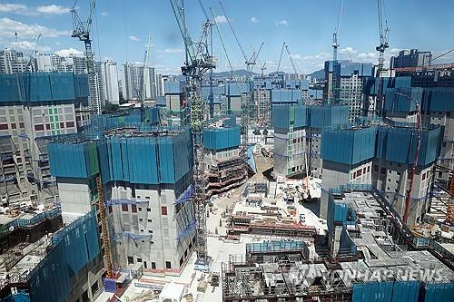
[[[191,135],[147,123],[109,128],[98,140],[49,144],[63,218],[92,209],[101,176],[114,268],[141,263],[145,275],[179,275],[195,244]]]

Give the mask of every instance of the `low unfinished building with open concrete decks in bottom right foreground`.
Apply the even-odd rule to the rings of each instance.
[[[298,240],[249,243],[245,256],[222,264],[222,299],[452,300],[453,255],[414,237],[380,192],[370,186],[334,190],[330,200],[329,253]]]

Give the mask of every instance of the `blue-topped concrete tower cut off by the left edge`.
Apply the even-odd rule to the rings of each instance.
[[[58,84],[57,84],[58,83]],[[15,73],[0,76],[0,191],[3,204],[54,200],[46,138],[77,132],[87,102],[85,75]]]

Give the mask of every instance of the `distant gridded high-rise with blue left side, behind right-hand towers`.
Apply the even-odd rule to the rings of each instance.
[[[372,76],[372,63],[352,63],[349,61],[325,62],[325,87],[323,99],[335,104],[350,107],[349,122],[362,115],[362,86]]]

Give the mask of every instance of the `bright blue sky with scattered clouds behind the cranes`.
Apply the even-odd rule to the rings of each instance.
[[[385,57],[401,49],[419,48],[434,56],[454,48],[453,0],[383,0],[390,28],[390,48]],[[186,0],[186,22],[192,39],[198,38],[205,16],[198,0]],[[227,23],[238,36],[247,56],[263,44],[254,72],[277,70],[281,45],[290,50],[298,73],[312,73],[332,58],[332,33],[338,22],[341,0],[202,0],[218,21],[226,50],[213,32],[213,54],[219,71],[245,69],[244,58]],[[31,54],[79,54],[84,44],[71,38],[75,7],[84,19],[88,0],[0,0],[0,48]],[[94,13],[94,52],[97,60],[118,64],[143,62],[148,35],[152,34],[150,65],[159,73],[180,73],[184,61],[183,38],[169,0],[98,0]],[[17,33],[17,38],[15,38]],[[42,34],[38,44],[36,36]],[[338,43],[339,59],[376,63],[380,44],[377,0],[344,0]],[[454,53],[434,63],[454,62]],[[121,68],[120,68],[121,69]],[[284,51],[281,71],[292,73]]]

